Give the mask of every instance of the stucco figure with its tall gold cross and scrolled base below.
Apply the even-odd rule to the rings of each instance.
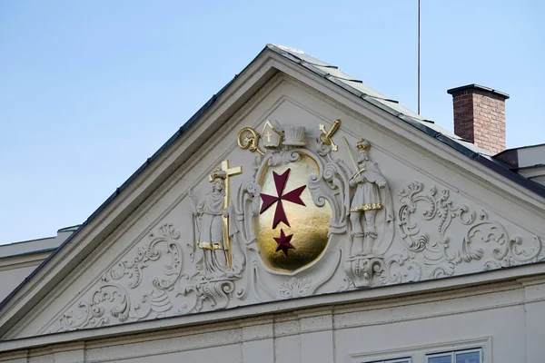
[[[243,221],[251,221],[254,213],[253,208],[244,207],[246,201],[253,204],[253,196],[242,201],[242,211],[230,201],[229,178],[242,172],[241,167],[230,168],[229,162],[223,161],[222,168],[216,168],[210,175],[212,191],[207,192],[202,201],[195,204],[193,191],[189,192],[193,233],[188,247],[192,250],[191,260],[197,273],[186,276],[179,284],[180,295],[195,295],[193,303],[183,304],[182,313],[200,311],[206,301],[211,307],[222,309],[233,298],[234,281],[241,279],[245,265],[241,244],[246,243],[248,229]],[[241,188],[252,190],[250,184],[243,184]]]

